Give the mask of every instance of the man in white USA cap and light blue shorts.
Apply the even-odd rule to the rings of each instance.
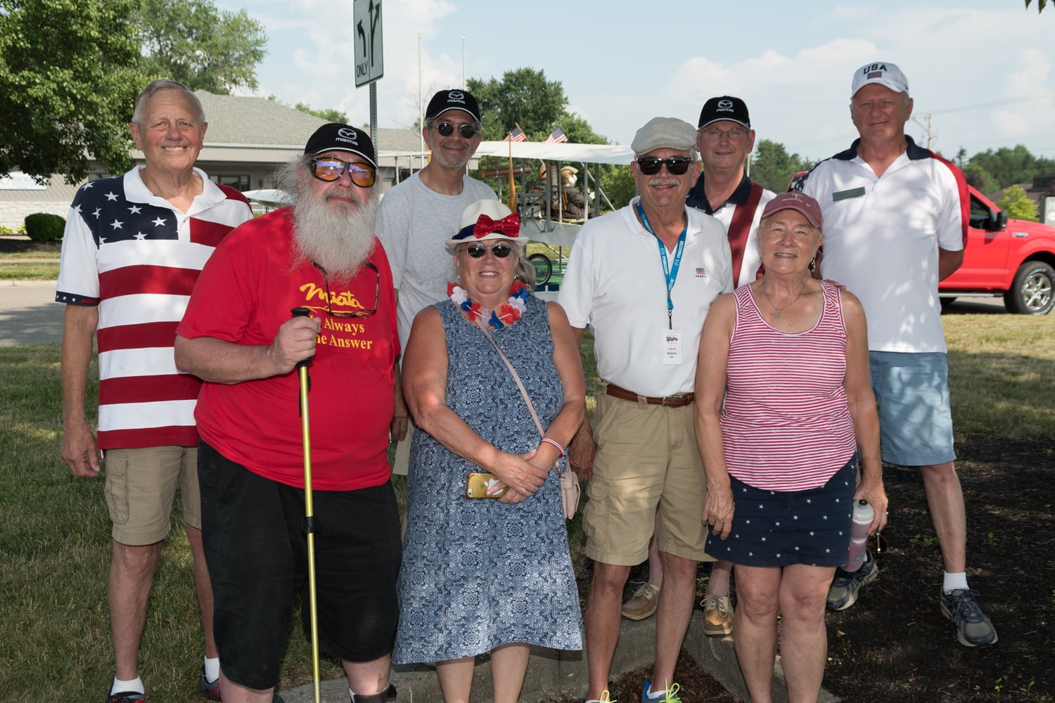
[[[795,184],[824,211],[824,278],[846,285],[868,317],[871,385],[883,461],[918,466],[945,563],[941,610],[968,647],[996,630],[966,579],[966,509],[953,461],[945,337],[938,281],[963,262],[970,200],[963,173],[904,133],[908,81],[890,62],[853,74],[850,117],[860,134]],[[875,581],[868,561],[838,571],[828,607],[848,608]]]

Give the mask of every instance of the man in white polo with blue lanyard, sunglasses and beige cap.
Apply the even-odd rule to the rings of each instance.
[[[580,341],[592,328],[605,387],[593,433],[583,423],[570,450],[579,477],[590,479],[582,524],[594,560],[583,614],[592,701],[608,688],[622,587],[648,554],[656,506],[664,587],[642,701],[679,700],[674,665],[692,614],[696,565],[713,561],[704,552],[707,483],[692,389],[704,317],[732,290],[732,273],[722,224],[685,204],[699,175],[695,138],[691,124],[667,117],[637,131],[631,171],[640,197],[582,227],[558,296]]]

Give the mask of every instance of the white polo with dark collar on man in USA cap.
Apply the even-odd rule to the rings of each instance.
[[[868,349],[944,352],[938,248],[963,249],[971,201],[963,172],[906,139],[882,177],[858,156],[857,140],[799,188],[824,213],[821,274],[861,299]]]

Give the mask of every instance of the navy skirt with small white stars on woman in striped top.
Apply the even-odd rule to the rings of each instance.
[[[735,476],[732,530],[707,533],[707,553],[744,566],[842,566],[849,555],[857,454],[828,483],[804,491],[772,491]]]

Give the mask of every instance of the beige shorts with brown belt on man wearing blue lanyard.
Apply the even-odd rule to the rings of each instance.
[[[668,408],[598,395],[594,440],[597,455],[582,512],[587,555],[605,564],[640,564],[656,529],[660,551],[714,561],[704,551],[707,479],[692,405]]]

